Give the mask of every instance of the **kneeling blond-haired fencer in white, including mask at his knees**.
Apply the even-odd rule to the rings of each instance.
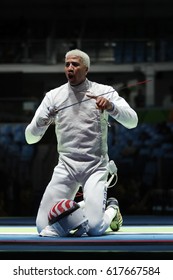
[[[34,144],[53,123],[57,138],[58,164],[36,218],[40,236],[99,236],[123,222],[117,199],[107,199],[108,176],[117,175],[108,157],[108,116],[128,129],[138,117],[113,87],[90,81],[89,69],[85,52],[68,51],[67,83],[45,94],[25,130],[27,143]],[[76,203],[81,187],[83,201]]]

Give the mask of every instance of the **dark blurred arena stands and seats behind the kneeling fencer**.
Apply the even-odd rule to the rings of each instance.
[[[118,183],[108,194],[126,215],[172,215],[172,1],[1,0],[0,216],[37,213],[58,160],[54,127],[35,145],[24,129],[44,94],[66,82],[73,48],[90,55],[88,78],[112,85],[139,116],[132,130],[109,120]]]

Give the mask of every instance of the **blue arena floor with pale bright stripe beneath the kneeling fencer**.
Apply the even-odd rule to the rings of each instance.
[[[127,216],[100,237],[39,237],[34,218],[0,219],[0,252],[173,253],[172,216]]]

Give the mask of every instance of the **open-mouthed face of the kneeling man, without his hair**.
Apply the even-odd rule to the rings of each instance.
[[[68,56],[65,60],[65,75],[72,86],[81,84],[86,79],[87,66],[79,56]]]

